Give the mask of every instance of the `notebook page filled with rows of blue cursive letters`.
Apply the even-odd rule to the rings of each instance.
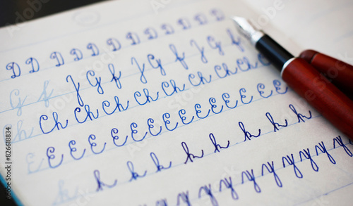
[[[18,201],[348,205],[352,143],[231,15],[257,17],[241,1],[109,1],[2,28]]]

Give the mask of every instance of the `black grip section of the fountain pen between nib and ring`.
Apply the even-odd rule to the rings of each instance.
[[[263,56],[270,60],[277,70],[282,70],[282,67],[287,60],[294,57],[267,34],[256,42],[255,47],[263,54]]]

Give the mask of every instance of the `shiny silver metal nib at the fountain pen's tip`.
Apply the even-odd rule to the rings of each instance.
[[[260,30],[256,30],[256,28],[246,18],[234,16],[232,19],[237,25],[238,32],[246,37],[246,39],[249,39],[253,45],[256,44],[258,39],[265,35]]]

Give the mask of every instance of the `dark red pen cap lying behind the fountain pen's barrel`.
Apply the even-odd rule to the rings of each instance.
[[[341,91],[353,96],[353,66],[318,51],[306,50],[300,55],[308,63],[325,75]]]

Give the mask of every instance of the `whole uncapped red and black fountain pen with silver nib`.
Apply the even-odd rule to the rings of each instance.
[[[320,53],[316,51],[305,51],[301,53],[302,58],[295,58],[267,34],[256,30],[246,18],[234,17],[233,20],[236,22],[239,32],[280,70],[282,79],[299,96],[305,98],[326,120],[353,140],[352,100],[314,68],[315,65],[321,65],[329,70],[331,65],[335,65],[335,59],[331,63],[325,62],[327,58],[317,58]],[[309,63],[313,62],[313,65],[306,60]],[[352,69],[351,65],[348,66]],[[352,75],[352,70],[349,74]],[[347,79],[347,75],[340,76]],[[346,85],[352,87],[353,79],[348,77]]]

